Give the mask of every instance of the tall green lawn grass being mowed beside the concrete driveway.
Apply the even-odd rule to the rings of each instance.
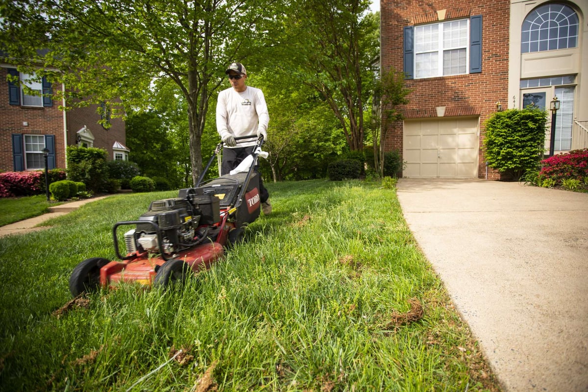
[[[61,314],[75,265],[115,258],[113,223],[177,193],[111,196],[0,239],[0,389],[499,390],[394,190],[268,188],[272,214],[181,289],[122,286]]]

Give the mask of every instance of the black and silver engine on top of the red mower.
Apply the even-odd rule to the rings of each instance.
[[[138,223],[135,229],[125,233],[126,251],[146,250],[149,253],[178,252],[196,243],[196,228],[200,215],[194,214],[191,203],[182,198],[155,200],[148,212],[139,217],[155,223],[161,232],[161,244],[155,226]]]

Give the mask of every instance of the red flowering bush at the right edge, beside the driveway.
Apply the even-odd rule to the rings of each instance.
[[[544,159],[542,164],[539,174],[543,178],[554,180],[556,185],[562,185],[565,179],[584,182],[584,179],[588,178],[588,149],[554,155]]]

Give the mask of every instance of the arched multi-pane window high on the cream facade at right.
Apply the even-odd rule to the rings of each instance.
[[[545,4],[524,18],[521,31],[521,53],[576,48],[578,15],[567,5]]]

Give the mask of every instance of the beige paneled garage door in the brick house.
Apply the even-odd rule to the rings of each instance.
[[[479,118],[404,123],[403,176],[477,178]]]

